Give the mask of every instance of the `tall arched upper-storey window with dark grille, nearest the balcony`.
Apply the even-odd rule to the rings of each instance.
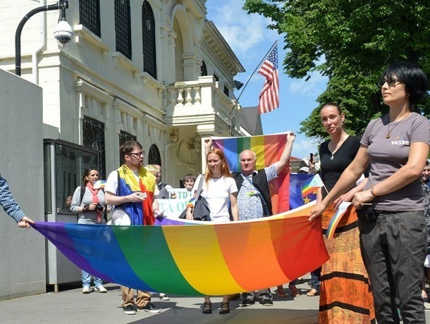
[[[155,19],[151,6],[142,6],[143,70],[156,79]]]

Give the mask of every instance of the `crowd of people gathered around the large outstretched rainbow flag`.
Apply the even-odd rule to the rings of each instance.
[[[309,221],[319,218],[324,235],[338,206],[352,203],[338,223],[333,239],[324,239],[330,259],[311,273],[308,297],[319,296],[319,323],[425,323],[424,285],[430,270],[430,123],[417,113],[417,104],[428,89],[426,75],[412,63],[388,66],[379,82],[386,115],[371,120],[362,137],[345,131],[345,114],[333,102],[320,111],[328,139],[319,147],[317,204]],[[204,143],[206,173],[196,179],[183,177],[183,185],[207,201],[211,222],[250,220],[271,216],[270,182],[288,166],[295,134],[288,132],[281,157],[271,166],[256,170],[254,151],[240,152],[240,172],[231,172],[223,151]],[[82,185],[75,189],[70,211],[80,224],[104,224],[110,206],[121,208],[131,225],[153,225],[160,213],[157,199],[174,198],[161,182],[161,167],[143,167],[145,152],[139,142],[120,148],[125,163],[112,171],[104,191],[94,188],[97,168],[85,170]],[[314,173],[314,158],[301,173]],[[197,192],[197,194],[196,194]],[[0,204],[20,227],[34,222],[25,216],[0,176]],[[193,219],[189,204],[186,218]],[[424,271],[424,266],[427,270]],[[424,279],[423,279],[424,278]],[[91,276],[82,270],[82,292],[90,292]],[[300,294],[290,282],[290,294]],[[106,292],[94,278],[95,291]],[[276,290],[285,297],[283,286]],[[151,294],[121,287],[123,312],[159,313]],[[166,297],[165,294],[160,294]],[[223,296],[219,313],[230,310],[231,296]],[[241,306],[258,301],[273,305],[270,287],[242,292]],[[209,296],[202,312],[212,313]]]

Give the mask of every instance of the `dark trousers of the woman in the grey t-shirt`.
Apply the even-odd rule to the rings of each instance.
[[[426,323],[421,297],[427,227],[423,211],[386,211],[358,220],[378,324]],[[398,305],[395,302],[398,295]]]

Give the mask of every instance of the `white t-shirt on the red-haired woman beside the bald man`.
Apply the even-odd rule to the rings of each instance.
[[[197,191],[200,177],[202,177],[202,175],[197,177],[194,187],[192,188],[192,192]],[[211,220],[213,222],[230,221],[228,203],[230,202],[230,194],[233,194],[234,192],[238,192],[238,187],[236,186],[236,182],[233,177],[211,179],[208,183],[206,183],[206,180],[203,180],[202,197],[206,199],[209,204]]]

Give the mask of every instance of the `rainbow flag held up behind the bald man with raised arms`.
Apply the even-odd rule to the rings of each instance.
[[[240,152],[251,149],[257,154],[256,169],[266,168],[279,161],[285,144],[286,134],[261,135],[252,137],[214,138],[214,147],[221,149],[226,156],[231,171],[240,171]],[[278,177],[270,182],[270,194],[273,213],[281,213],[289,209],[290,173],[288,166]]]

